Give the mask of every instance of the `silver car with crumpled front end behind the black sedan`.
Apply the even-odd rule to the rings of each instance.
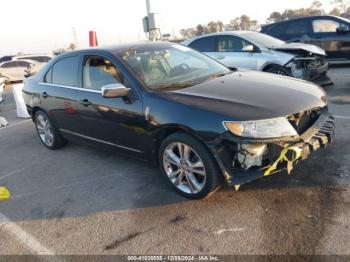
[[[285,43],[253,31],[220,32],[197,36],[183,45],[218,60],[227,67],[259,70],[331,85],[323,49],[309,44]]]

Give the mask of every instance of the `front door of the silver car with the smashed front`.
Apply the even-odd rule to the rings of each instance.
[[[244,51],[247,46],[252,46],[253,50]],[[216,52],[212,56],[228,67],[257,70],[260,52],[257,52],[256,46],[238,36],[219,35]]]

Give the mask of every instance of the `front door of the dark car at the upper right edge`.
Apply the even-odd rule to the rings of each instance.
[[[340,27],[349,27],[345,22],[332,18],[318,18],[312,21],[312,44],[326,50],[331,60],[350,59],[350,33],[337,32]]]

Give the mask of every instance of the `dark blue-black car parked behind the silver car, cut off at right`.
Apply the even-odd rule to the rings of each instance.
[[[287,42],[310,43],[327,52],[329,61],[350,62],[350,20],[310,16],[265,25],[262,33]]]

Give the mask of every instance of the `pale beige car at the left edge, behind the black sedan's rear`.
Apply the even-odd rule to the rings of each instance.
[[[9,78],[9,82],[23,81],[27,70],[40,63],[34,60],[12,60],[0,64],[0,74]]]

